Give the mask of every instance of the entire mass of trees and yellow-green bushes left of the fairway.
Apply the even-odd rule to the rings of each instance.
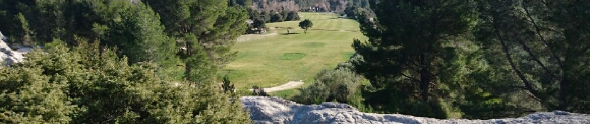
[[[8,42],[44,48],[0,68],[0,123],[248,123],[216,75],[240,4],[0,1]]]

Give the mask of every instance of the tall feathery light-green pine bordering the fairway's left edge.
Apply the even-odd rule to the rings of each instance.
[[[242,6],[228,1],[143,1],[162,16],[166,32],[183,49],[185,78],[201,82],[214,78],[217,69],[230,62],[237,36],[244,33],[248,18]]]

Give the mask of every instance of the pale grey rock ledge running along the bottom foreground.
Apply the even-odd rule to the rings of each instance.
[[[240,99],[255,123],[590,123],[590,115],[560,111],[539,112],[509,119],[431,119],[399,114],[362,113],[341,103],[301,105],[264,96],[242,96]]]

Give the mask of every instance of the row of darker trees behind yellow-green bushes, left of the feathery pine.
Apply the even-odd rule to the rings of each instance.
[[[75,45],[78,38],[99,39],[116,47],[130,63],[155,62],[173,66],[178,49],[163,31],[159,15],[144,4],[129,1],[6,1],[1,29],[13,43],[25,46],[61,39]],[[15,16],[11,20],[11,16]],[[19,26],[12,26],[12,25]],[[38,42],[38,43],[35,43]]]

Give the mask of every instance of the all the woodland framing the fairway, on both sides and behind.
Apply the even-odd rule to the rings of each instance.
[[[312,11],[356,19],[368,40],[351,39],[355,55],[298,103],[428,118],[590,112],[586,1],[0,1],[5,42],[42,46],[0,68],[0,123],[248,123],[235,99],[252,94],[218,75],[235,39]]]

